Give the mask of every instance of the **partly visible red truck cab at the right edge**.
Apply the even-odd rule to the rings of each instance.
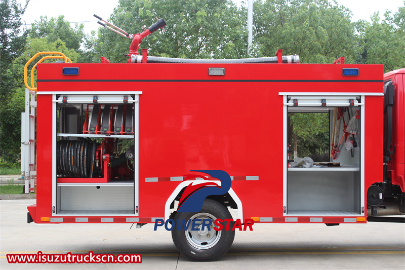
[[[405,213],[404,89],[405,68],[384,74],[384,175],[369,188],[369,216]]]

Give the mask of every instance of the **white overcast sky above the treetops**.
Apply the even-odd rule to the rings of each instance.
[[[233,1],[240,4],[240,0]],[[17,2],[24,4],[25,0],[17,0]],[[352,21],[359,19],[370,21],[370,16],[375,11],[378,11],[382,18],[386,9],[397,12],[398,7],[404,6],[404,0],[337,0],[337,2],[351,10],[353,13]],[[22,19],[29,28],[29,24],[34,20],[39,20],[40,16],[56,18],[59,15],[64,15],[65,20],[69,22],[84,22],[85,31],[90,33],[101,27],[93,14],[107,20],[117,3],[118,0],[30,0]],[[164,14],[161,17],[165,17]],[[119,25],[117,26],[119,27]],[[170,27],[170,25],[166,27]]]

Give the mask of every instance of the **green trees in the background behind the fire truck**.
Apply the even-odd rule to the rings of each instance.
[[[21,16],[28,1],[21,7],[16,0],[0,0],[0,159],[8,162],[20,155],[23,66],[32,55],[56,50],[76,62],[99,62],[100,56],[126,62],[131,43],[104,28],[86,34],[83,25],[72,27],[63,16],[39,17],[23,29]],[[351,15],[335,0],[256,0],[253,56],[273,56],[283,49],[285,55],[298,54],[302,63],[332,63],[345,56],[346,63],[384,64],[385,71],[405,67],[405,2],[383,17],[375,13],[371,22],[351,22]],[[141,44],[150,55],[248,57],[247,10],[231,0],[120,0],[108,20],[137,33],[155,17],[163,17],[167,26],[163,34],[155,32]],[[297,141],[301,138],[308,149],[326,140],[320,132],[323,122],[314,115],[305,120],[319,124],[312,136],[304,132],[308,126],[300,126],[298,116],[291,118]]]

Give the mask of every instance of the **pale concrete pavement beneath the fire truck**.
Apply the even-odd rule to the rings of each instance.
[[[1,269],[404,269],[405,225],[400,223],[255,224],[236,232],[216,262],[179,255],[169,232],[152,225],[26,223],[35,200],[0,200]],[[8,253],[138,253],[141,264],[9,264]]]

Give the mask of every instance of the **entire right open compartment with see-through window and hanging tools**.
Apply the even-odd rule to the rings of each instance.
[[[328,99],[328,97],[305,96],[292,97],[290,100],[286,106],[288,125],[285,134],[289,143],[288,159],[290,160],[285,178],[284,196],[287,204],[285,215],[361,215],[364,208],[361,196],[363,134],[360,98],[338,96]],[[308,154],[313,159],[314,165],[301,164],[300,166],[297,162],[292,162],[296,158],[294,155],[298,153],[297,143],[303,143],[303,141],[307,143],[305,140],[297,139],[296,133],[299,132],[295,133],[291,130],[293,125],[290,118],[293,114],[296,114],[295,120],[306,119],[309,123],[311,123],[309,119],[315,119],[313,120],[315,122],[319,121],[318,119],[323,121],[324,133],[313,137],[317,139],[318,136],[324,145],[317,146],[321,148],[319,152]],[[350,122],[350,119],[353,120]],[[316,133],[317,127],[312,128]],[[292,136],[294,136],[293,145],[291,145]],[[299,158],[304,157],[299,156]]]

